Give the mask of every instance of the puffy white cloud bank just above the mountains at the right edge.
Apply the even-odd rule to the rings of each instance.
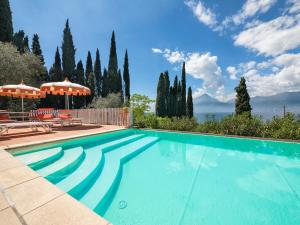
[[[283,54],[261,63],[242,63],[237,73],[246,78],[251,96],[300,91],[300,53]]]

